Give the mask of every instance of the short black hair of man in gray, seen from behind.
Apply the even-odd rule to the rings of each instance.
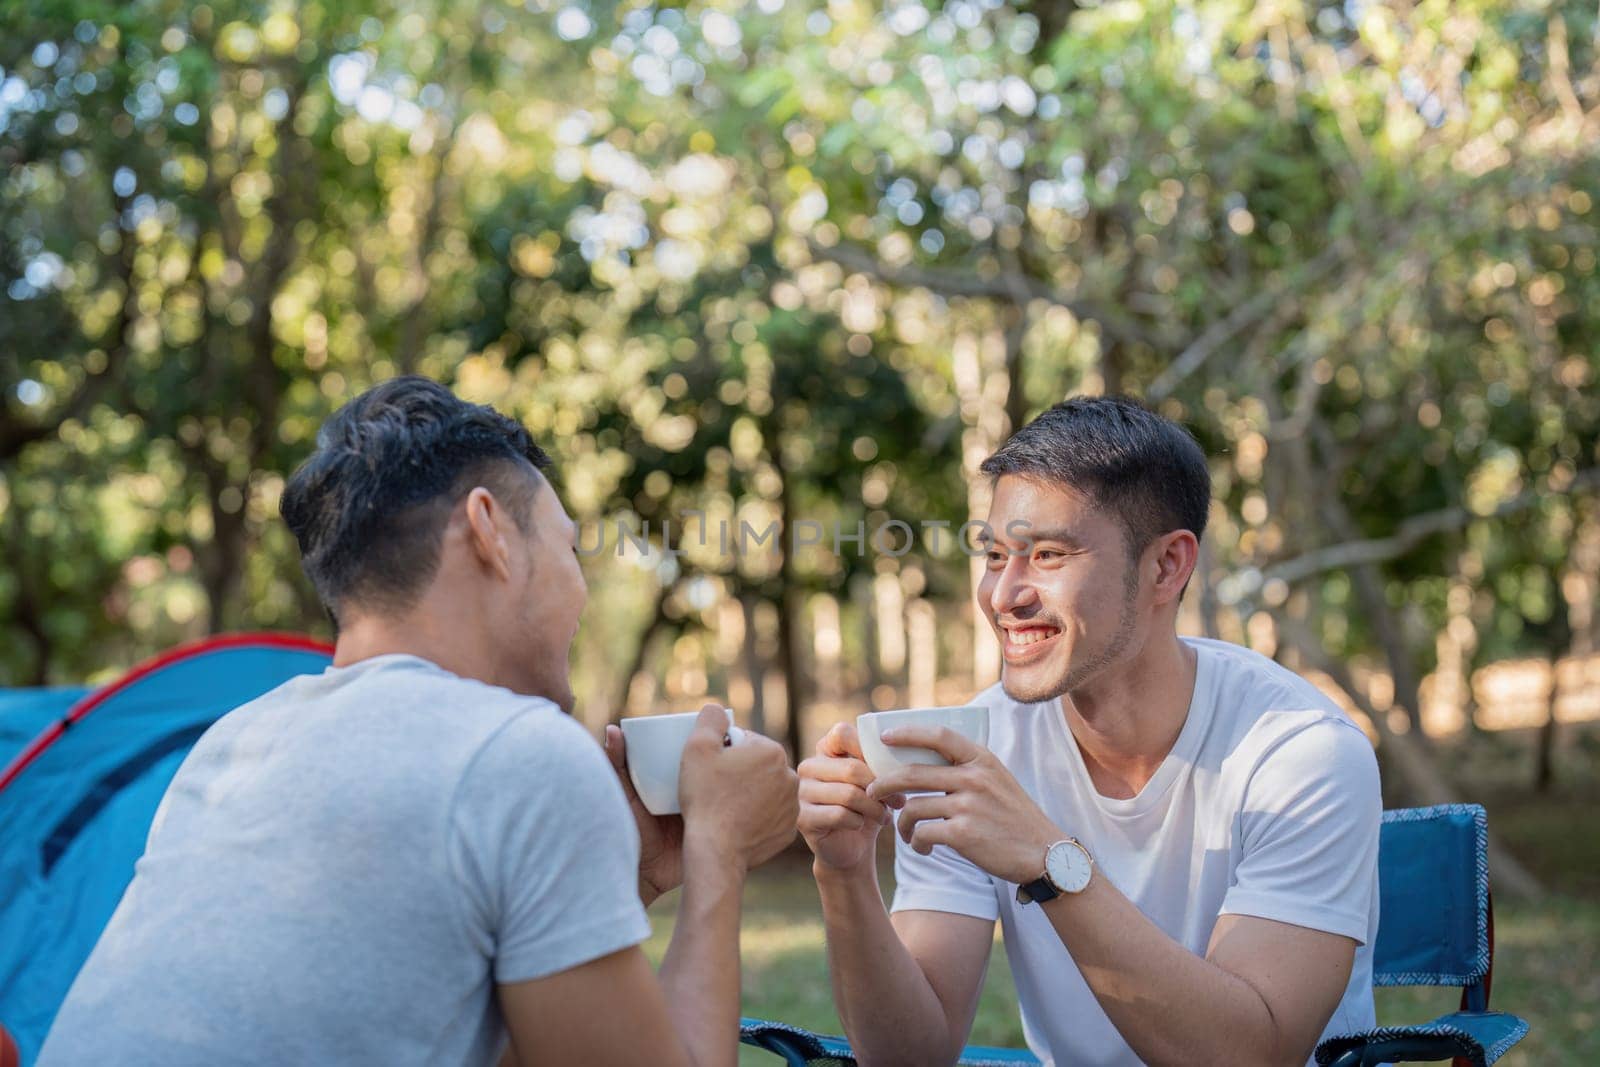
[[[323,422],[283,490],[283,522],[334,622],[347,603],[405,608],[438,568],[456,502],[485,485],[526,530],[549,464],[515,419],[408,374]]]

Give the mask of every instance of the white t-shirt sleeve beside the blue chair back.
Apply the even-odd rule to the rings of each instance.
[[[1318,720],[1277,742],[1238,817],[1242,857],[1222,915],[1366,942],[1382,795],[1373,747],[1354,723]]]

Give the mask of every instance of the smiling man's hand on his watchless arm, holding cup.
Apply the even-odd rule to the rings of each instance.
[[[890,806],[904,798],[875,800],[867,795],[870,784],[872,771],[850,723],[829,729],[816,742],[816,755],[800,765],[800,833],[824,867],[856,870],[872,862],[878,830],[893,817]]]

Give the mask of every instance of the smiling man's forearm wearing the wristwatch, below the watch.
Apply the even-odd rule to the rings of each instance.
[[[1101,1008],[1141,1061],[1304,1064],[1243,979],[1178,944],[1110,881],[1042,905]]]

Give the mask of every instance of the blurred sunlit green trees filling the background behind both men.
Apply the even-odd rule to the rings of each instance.
[[[1592,766],[1594,5],[3,19],[3,683],[323,632],[283,478],[419,371],[558,459],[586,720],[726,694],[806,749],[995,677],[970,475],[1125,390],[1214,459],[1190,632],[1318,672],[1413,795]],[[822,544],[718,539],[774,522]]]

